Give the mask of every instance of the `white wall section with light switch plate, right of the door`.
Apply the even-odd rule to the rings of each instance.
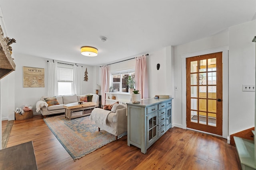
[[[242,84],[255,84],[256,20],[229,28],[229,131],[254,127],[255,92],[242,92]]]

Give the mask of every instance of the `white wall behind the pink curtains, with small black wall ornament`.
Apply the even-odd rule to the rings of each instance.
[[[148,69],[149,98],[153,98],[156,94],[167,94],[172,96],[172,47],[162,48],[148,54],[149,55],[146,59]],[[160,64],[159,70],[156,69],[156,65],[158,63]],[[110,64],[108,65],[108,76],[109,73],[113,71],[128,70],[133,68],[135,68],[135,59]],[[100,68],[99,77],[101,77]],[[101,82],[99,83],[101,84]]]

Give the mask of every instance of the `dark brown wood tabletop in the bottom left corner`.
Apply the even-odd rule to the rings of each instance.
[[[32,141],[0,150],[0,170],[37,170]]]

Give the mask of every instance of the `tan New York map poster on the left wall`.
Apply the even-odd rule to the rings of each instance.
[[[23,66],[23,87],[44,87],[44,68]]]

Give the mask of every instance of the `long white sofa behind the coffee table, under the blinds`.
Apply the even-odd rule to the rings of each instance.
[[[99,96],[97,94],[89,93],[89,94],[84,94],[84,95],[92,95],[92,102],[97,103],[96,107],[99,104]],[[63,96],[55,96],[59,102],[58,105],[54,106],[48,106],[48,104],[45,102],[45,98],[53,97],[53,96],[42,96],[41,99],[36,102],[36,111],[40,111],[41,114],[46,117],[46,115],[52,115],[52,114],[57,114],[57,113],[65,113],[65,109],[63,105],[65,104],[70,104],[70,103],[78,103],[80,101],[80,96],[84,95],[63,95]],[[94,108],[88,107],[88,109]],[[90,113],[88,114],[90,115]]]

